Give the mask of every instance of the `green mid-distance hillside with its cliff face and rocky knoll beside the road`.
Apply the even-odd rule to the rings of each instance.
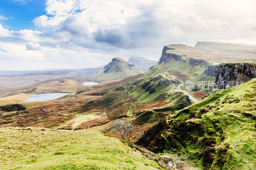
[[[173,51],[175,50],[165,46],[156,65],[150,67],[135,82],[125,85],[137,103],[151,104],[169,100],[178,92],[177,86],[186,80],[214,80],[214,68],[218,67],[218,64],[188,58],[186,55],[176,55],[171,53]]]

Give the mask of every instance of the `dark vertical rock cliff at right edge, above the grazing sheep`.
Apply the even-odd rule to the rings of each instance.
[[[252,78],[256,78],[256,64],[254,63],[228,63],[215,71],[215,87],[225,88],[240,85]]]

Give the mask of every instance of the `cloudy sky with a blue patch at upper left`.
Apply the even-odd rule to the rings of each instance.
[[[0,70],[159,60],[170,44],[256,45],[255,0],[0,0]]]

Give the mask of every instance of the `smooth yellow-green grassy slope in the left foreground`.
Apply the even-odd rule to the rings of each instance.
[[[1,128],[0,148],[0,169],[162,169],[97,131]]]

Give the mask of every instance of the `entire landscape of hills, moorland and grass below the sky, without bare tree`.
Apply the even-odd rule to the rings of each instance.
[[[158,62],[4,75],[0,168],[253,169],[255,56],[252,45],[197,42],[165,46]],[[111,131],[116,120],[135,127],[131,144]]]

